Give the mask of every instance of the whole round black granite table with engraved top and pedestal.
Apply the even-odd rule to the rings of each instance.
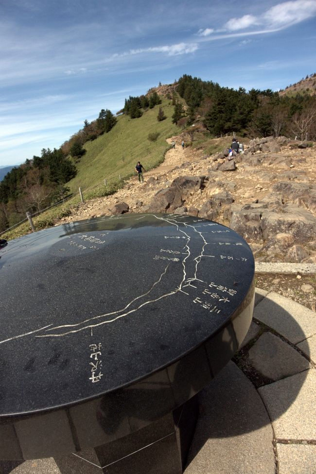
[[[194,397],[242,343],[254,259],[175,214],[54,227],[0,248],[0,459],[181,473]]]

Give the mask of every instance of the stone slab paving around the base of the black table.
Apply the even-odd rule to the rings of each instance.
[[[243,347],[200,393],[185,474],[316,474],[315,419],[316,313],[257,289]],[[39,459],[2,462],[0,474],[59,470]]]

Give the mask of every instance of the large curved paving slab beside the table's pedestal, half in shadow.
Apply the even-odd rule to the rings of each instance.
[[[185,474],[274,474],[272,440],[261,398],[229,362],[200,394],[200,417]]]

